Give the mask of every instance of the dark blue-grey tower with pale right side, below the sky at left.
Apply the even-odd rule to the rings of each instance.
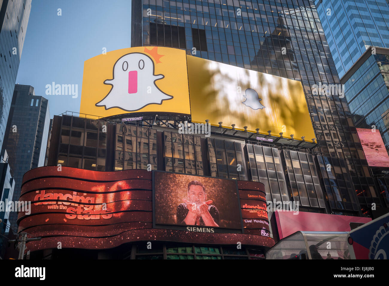
[[[14,171],[13,200],[20,197],[23,175],[32,168],[44,165],[50,112],[46,98],[36,96],[34,88],[16,84],[7,123],[4,144],[8,161]],[[16,226],[17,212],[10,214],[11,225]]]

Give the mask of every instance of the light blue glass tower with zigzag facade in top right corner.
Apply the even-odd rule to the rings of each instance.
[[[389,48],[386,0],[315,0],[339,77],[369,46]]]

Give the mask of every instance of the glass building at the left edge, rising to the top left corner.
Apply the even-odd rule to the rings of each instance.
[[[26,37],[31,0],[0,0],[0,148]]]

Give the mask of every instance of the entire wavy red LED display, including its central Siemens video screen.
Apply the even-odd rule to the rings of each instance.
[[[63,248],[105,249],[151,237],[186,243],[274,244],[268,236],[263,184],[154,171],[154,186],[152,174],[72,167],[58,172],[57,166],[26,172],[20,200],[31,202],[31,208],[29,213],[19,212],[19,230],[27,232],[28,238],[42,237],[28,242],[28,249],[56,248],[59,241]],[[187,191],[192,181],[197,181],[189,186],[195,197]],[[176,223],[177,208],[180,219],[186,219],[184,204],[194,214],[207,212],[212,220],[200,214],[194,223],[188,221],[193,225]]]

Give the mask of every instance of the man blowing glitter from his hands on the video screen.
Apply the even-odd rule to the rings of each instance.
[[[199,181],[188,184],[188,200],[177,206],[177,222],[182,225],[219,226],[219,211],[207,200],[204,185]]]

